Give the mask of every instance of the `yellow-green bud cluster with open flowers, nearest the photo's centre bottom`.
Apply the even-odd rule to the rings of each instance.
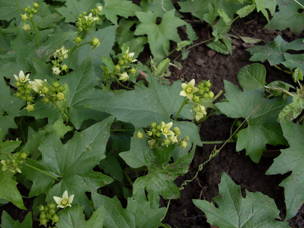
[[[188,136],[185,136],[183,139],[179,137],[181,135],[181,131],[178,127],[174,127],[173,131],[170,130],[172,127],[172,122],[165,124],[161,122],[160,124],[156,124],[156,122],[151,122],[150,127],[146,131],[146,136],[151,140],[148,140],[148,144],[151,149],[153,149],[159,141],[162,141],[161,145],[165,145],[168,147],[170,144],[175,144],[176,146],[180,146],[182,148],[186,148],[188,143],[186,141],[189,140]],[[165,139],[161,139],[161,135],[165,136]],[[168,137],[170,135],[170,137]],[[136,134],[138,139],[144,137],[144,134],[138,130]]]

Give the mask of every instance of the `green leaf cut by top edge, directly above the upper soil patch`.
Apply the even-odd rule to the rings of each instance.
[[[184,13],[191,12],[192,16],[203,21],[204,14],[209,12],[208,6],[214,6],[214,2],[214,0],[196,0],[194,2],[188,0],[185,2],[178,2],[178,5],[181,7],[179,11]]]

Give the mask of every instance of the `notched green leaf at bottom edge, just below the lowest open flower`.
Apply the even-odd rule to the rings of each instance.
[[[100,228],[103,227],[103,213],[104,207],[100,206],[86,221],[82,208],[76,204],[65,210],[60,210],[58,213],[59,223],[56,223],[56,226],[58,228]]]

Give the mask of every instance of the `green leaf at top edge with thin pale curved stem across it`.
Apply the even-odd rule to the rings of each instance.
[[[140,5],[143,7],[144,12],[154,12],[157,17],[163,17],[165,12],[175,9],[170,0],[143,0],[140,1]]]

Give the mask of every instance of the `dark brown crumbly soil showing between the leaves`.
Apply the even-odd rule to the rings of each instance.
[[[232,29],[238,36],[249,36],[264,40],[264,42],[260,44],[273,41],[277,35],[282,35],[283,39],[288,42],[295,39],[294,34],[288,29],[283,31],[283,33],[271,29],[262,30],[265,24],[266,20],[264,16],[252,13],[243,19],[238,19],[233,24]],[[195,41],[195,43],[202,42],[209,38],[210,28],[206,27],[206,24],[194,26],[199,37],[199,40]],[[186,37],[183,29],[180,30],[180,33]],[[234,34],[232,30],[230,33]],[[224,90],[223,80],[228,80],[238,85],[237,72],[241,67],[252,63],[249,61],[250,54],[245,50],[249,47],[251,47],[251,45],[244,43],[240,39],[233,38],[233,54],[223,55],[214,52],[204,44],[199,45],[190,50],[186,60],[178,59],[183,68],[178,70],[172,67],[170,69],[172,72],[170,79],[172,81],[179,78],[185,78],[186,81],[192,78],[195,78],[196,81],[210,79],[213,84],[212,91],[216,94],[219,90]],[[172,44],[172,49],[173,48],[174,44]],[[176,56],[177,54],[170,57],[171,60]],[[142,62],[145,62],[145,58],[143,57],[142,59]],[[266,67],[266,81],[281,80],[293,84],[289,75],[278,71],[268,63],[264,63],[264,66]],[[224,96],[222,95],[221,98],[224,98]],[[224,115],[210,116],[207,121],[202,123],[200,130],[201,139],[203,141],[228,139],[233,121],[234,119]],[[221,145],[217,145],[217,148],[220,146]],[[213,148],[214,145],[204,145],[204,147],[197,148],[195,157],[190,165],[190,171],[185,174],[185,176],[177,178],[175,181],[177,186],[180,186],[185,180],[189,180],[195,175],[199,164],[202,164],[208,159]],[[168,223],[172,228],[209,228],[210,226],[206,222],[206,216],[192,203],[192,199],[212,201],[212,197],[218,195],[218,184],[223,172],[226,172],[236,184],[241,185],[243,196],[245,194],[244,190],[247,189],[249,192],[258,191],[273,198],[280,210],[281,218],[284,219],[286,214],[284,189],[278,185],[288,174],[265,175],[265,172],[271,166],[272,162],[273,158],[262,157],[260,163],[255,164],[248,156],[245,156],[245,151],[236,152],[235,143],[226,144],[220,154],[204,166],[197,178],[185,186],[185,190],[181,191],[181,198],[171,200],[167,216],[162,222]],[[18,187],[20,191],[26,189],[22,185],[18,185]],[[25,206],[31,208],[33,199],[23,199]],[[167,202],[168,201],[163,200],[161,203],[163,206],[166,206]],[[0,208],[1,211],[3,209],[7,211],[13,219],[18,219],[19,221],[22,221],[28,213],[28,211],[18,209],[12,203]],[[298,214],[288,222],[289,226],[293,228],[304,227],[304,206],[302,206]],[[33,227],[38,227],[38,225],[39,224],[34,223]]]

